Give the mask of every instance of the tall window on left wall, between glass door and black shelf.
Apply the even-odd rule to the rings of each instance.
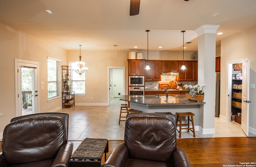
[[[48,75],[48,100],[60,98],[61,93],[61,60],[47,58],[47,75]]]

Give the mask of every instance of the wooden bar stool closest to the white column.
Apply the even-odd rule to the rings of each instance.
[[[189,130],[193,132],[193,135],[194,137],[196,137],[196,134],[195,134],[195,127],[194,127],[194,119],[193,119],[193,116],[195,116],[194,113],[192,112],[185,112],[185,113],[176,113],[177,115],[177,119],[176,119],[176,128],[177,128],[177,131],[179,132],[179,137],[181,137],[181,131],[182,129],[188,129],[188,132]],[[182,124],[182,117],[188,117],[188,123],[186,124]],[[180,117],[180,119],[179,119]],[[190,119],[191,117],[191,119]],[[179,126],[180,126],[180,130],[178,130],[178,121],[180,122]],[[189,127],[189,121],[192,122],[192,127]],[[182,125],[187,125],[188,127],[183,127],[182,128]],[[192,130],[193,129],[193,130]]]

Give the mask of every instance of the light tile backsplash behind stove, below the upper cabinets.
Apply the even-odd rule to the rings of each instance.
[[[176,76],[162,76],[161,75],[161,81],[147,81],[145,82],[145,89],[158,89],[158,83],[159,82],[167,82],[176,80]],[[178,84],[183,83],[184,85],[196,85],[197,81],[177,81]],[[146,88],[147,87],[147,88]]]

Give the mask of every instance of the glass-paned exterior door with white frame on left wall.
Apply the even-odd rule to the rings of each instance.
[[[38,62],[15,59],[15,116],[39,112]]]

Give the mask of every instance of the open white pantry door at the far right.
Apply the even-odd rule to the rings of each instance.
[[[249,135],[249,84],[250,84],[250,61],[243,63],[243,80],[242,80],[242,116],[241,128],[244,133]]]

